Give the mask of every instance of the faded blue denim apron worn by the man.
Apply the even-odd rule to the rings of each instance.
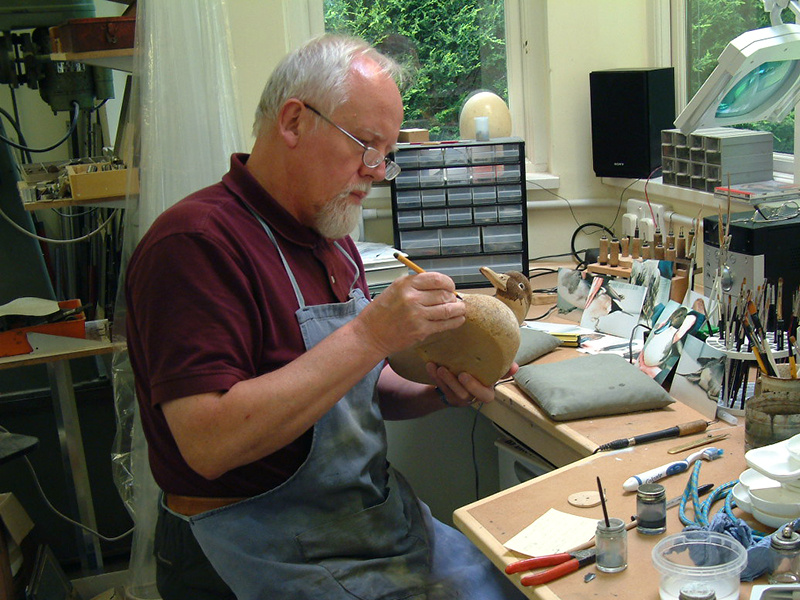
[[[275,236],[258,219],[292,282],[295,314],[311,349],[368,304],[355,287],[358,267],[337,244],[356,271],[350,298],[306,306]],[[286,482],[188,519],[238,600],[519,597],[505,577],[498,585],[499,571],[462,534],[433,519],[388,465],[377,399],[381,368],[314,425],[309,455]]]

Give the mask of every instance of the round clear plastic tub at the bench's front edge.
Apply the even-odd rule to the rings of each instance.
[[[747,551],[729,535],[705,530],[669,535],[655,545],[652,559],[661,574],[661,600],[678,600],[681,588],[693,581],[714,588],[717,600],[739,598]]]

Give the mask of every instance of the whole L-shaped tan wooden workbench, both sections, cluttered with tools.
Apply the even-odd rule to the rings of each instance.
[[[536,280],[534,287],[547,285],[540,281]],[[547,308],[546,305],[534,305],[528,316],[531,318],[545,314]],[[575,324],[557,315],[548,316],[546,320]],[[578,356],[581,356],[581,353],[575,348],[559,347],[537,359],[536,363],[551,363]],[[693,408],[682,404],[679,399],[660,410],[556,422],[550,419],[514,382],[507,382],[495,388],[495,401],[483,405],[481,413],[558,467],[525,483],[459,508],[453,513],[455,525],[501,570],[511,562],[526,558],[507,550],[503,544],[550,508],[577,516],[602,519],[600,506],[576,508],[567,500],[576,492],[596,491],[597,477],[601,478],[606,490],[609,516],[627,522],[636,513],[636,494],[624,492],[622,483],[632,475],[680,460],[694,451],[669,454],[667,450],[670,448],[707,435],[709,432],[715,434],[728,432],[730,433],[728,439],[713,444],[724,449],[723,457],[703,462],[699,484],[713,483],[715,486],[720,486],[737,479],[747,468],[744,460],[744,419],[740,419],[736,426],[723,422],[712,423],[704,434],[593,454],[599,445],[615,439],[658,431],[691,421],[707,420]],[[681,473],[660,482],[666,488],[667,498],[671,499],[683,493],[690,473],[691,469],[688,473]],[[715,514],[722,506],[722,502],[714,504],[710,514]],[[765,529],[764,525],[753,520],[748,513],[734,509],[734,514],[743,518],[756,530]],[[688,511],[688,516],[693,518],[691,510]],[[667,532],[664,535],[678,533],[682,529],[678,508],[670,509],[667,515]],[[769,532],[771,533],[771,530]],[[541,600],[585,598],[655,600],[659,597],[659,573],[652,564],[651,551],[664,535],[645,536],[637,533],[635,529],[629,531],[628,568],[621,573],[604,574],[597,571],[595,566],[587,566],[538,587],[523,587],[519,584],[520,575],[509,577],[528,597]],[[584,576],[587,573],[595,573],[597,576],[585,583]],[[759,583],[766,583],[766,577],[754,582],[754,584]],[[747,600],[754,584],[742,583],[740,598]]]

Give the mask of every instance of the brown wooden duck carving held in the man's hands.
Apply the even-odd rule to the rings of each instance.
[[[460,294],[467,304],[464,324],[391,355],[389,364],[396,373],[433,385],[425,370],[432,362],[456,374],[467,372],[488,386],[508,372],[519,350],[519,327],[533,301],[531,284],[518,271],[480,271],[495,288],[494,295]]]

